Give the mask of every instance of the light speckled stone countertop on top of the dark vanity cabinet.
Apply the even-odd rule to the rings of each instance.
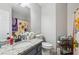
[[[17,42],[13,46],[4,45],[0,48],[0,55],[17,55],[41,43],[42,41],[42,39],[31,39],[29,41]]]

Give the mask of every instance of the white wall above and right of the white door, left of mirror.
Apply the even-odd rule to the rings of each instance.
[[[12,33],[12,11],[11,11],[11,5],[8,3],[0,3],[0,9],[1,10],[5,10],[9,13],[9,26],[7,28],[9,28],[9,33]],[[4,27],[2,27],[4,29]]]

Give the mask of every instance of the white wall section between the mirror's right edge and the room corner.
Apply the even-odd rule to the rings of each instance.
[[[31,31],[41,33],[41,7],[31,4]]]

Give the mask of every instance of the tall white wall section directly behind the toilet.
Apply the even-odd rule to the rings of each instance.
[[[41,33],[56,48],[56,4],[43,4],[41,9]]]

